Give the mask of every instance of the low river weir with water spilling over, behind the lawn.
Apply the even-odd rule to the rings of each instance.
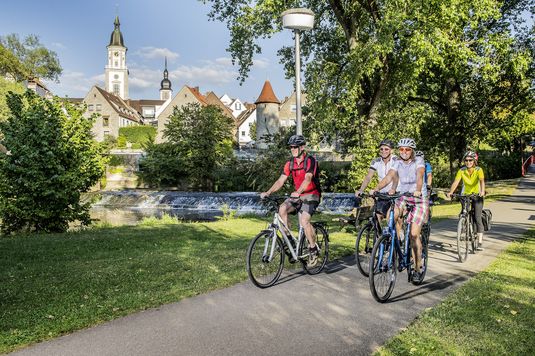
[[[186,220],[212,220],[223,215],[223,210],[236,215],[266,215],[267,205],[255,192],[206,193],[177,191],[121,190],[102,191],[90,195],[92,215],[109,220],[113,215],[131,215],[133,219],[169,214]],[[324,193],[318,211],[326,214],[344,214],[353,207],[352,193]],[[128,219],[127,219],[128,220]]]

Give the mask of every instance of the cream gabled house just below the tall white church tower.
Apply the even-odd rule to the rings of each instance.
[[[97,114],[93,124],[93,134],[97,141],[104,141],[107,136],[119,137],[119,128],[143,123],[141,115],[119,96],[93,86],[83,100],[87,105],[84,116]]]

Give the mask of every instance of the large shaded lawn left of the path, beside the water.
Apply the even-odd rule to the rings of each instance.
[[[244,281],[245,251],[265,227],[258,218],[164,217],[0,238],[0,353]],[[330,259],[353,244],[353,234],[332,231]]]

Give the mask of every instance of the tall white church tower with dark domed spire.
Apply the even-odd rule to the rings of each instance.
[[[122,99],[128,99],[128,68],[126,67],[126,51],[123,41],[119,16],[115,16],[115,29],[111,33],[108,48],[108,64],[106,65],[106,91]]]

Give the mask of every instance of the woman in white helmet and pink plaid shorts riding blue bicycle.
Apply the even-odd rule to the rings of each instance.
[[[399,158],[392,166],[386,177],[379,182],[376,189],[382,189],[394,179],[398,179],[400,193],[412,193],[413,196],[402,196],[396,200],[394,217],[398,236],[402,236],[403,216],[407,204],[414,205],[408,216],[411,223],[410,239],[412,256],[415,262],[413,280],[421,280],[422,242],[420,232],[429,215],[429,198],[424,184],[425,163],[422,157],[416,157],[416,142],[412,138],[402,138],[398,142]]]

